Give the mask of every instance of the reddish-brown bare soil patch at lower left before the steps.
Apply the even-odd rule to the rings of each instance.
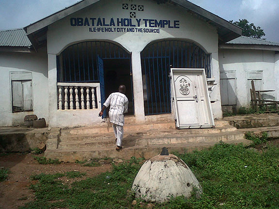
[[[0,182],[0,209],[16,209],[34,199],[34,194],[29,189],[29,186],[36,182],[30,179],[32,175],[79,171],[86,173],[86,176],[78,178],[78,180],[81,180],[109,171],[112,165],[103,164],[97,167],[86,167],[75,163],[39,164],[34,160],[34,155],[31,153],[13,153],[0,157],[0,167],[10,169],[9,179]],[[71,183],[77,179],[63,177],[62,180],[65,183]]]

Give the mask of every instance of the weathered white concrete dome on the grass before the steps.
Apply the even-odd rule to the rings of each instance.
[[[167,202],[176,196],[188,198],[193,189],[197,197],[202,194],[202,187],[191,169],[172,154],[156,155],[146,161],[132,186],[137,198],[157,203]]]

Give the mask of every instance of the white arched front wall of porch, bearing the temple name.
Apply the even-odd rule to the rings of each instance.
[[[162,28],[160,33],[136,33],[136,32],[90,32],[88,26],[73,27],[70,25],[71,17],[88,17],[88,18],[130,18],[130,10],[123,10],[122,3],[144,5],[144,11],[136,11],[138,19],[157,19],[157,20],[179,20],[180,29]],[[140,28],[144,28],[143,22],[141,22]],[[213,112],[215,118],[222,117],[220,93],[219,93],[219,64],[218,64],[218,35],[217,30],[206,24],[202,20],[199,20],[194,15],[190,15],[185,9],[176,7],[170,4],[157,4],[155,1],[149,0],[102,0],[93,4],[82,11],[79,11],[73,15],[52,24],[48,28],[47,32],[47,53],[48,56],[53,57],[49,60],[48,64],[51,66],[49,70],[49,83],[54,85],[56,83],[56,60],[55,55],[60,54],[67,46],[74,43],[86,41],[86,40],[109,40],[117,42],[124,46],[128,51],[132,53],[132,70],[133,70],[133,84],[134,84],[134,98],[135,98],[135,116],[137,122],[144,122],[144,106],[143,106],[143,89],[142,89],[142,76],[140,65],[140,52],[146,45],[154,40],[167,39],[167,38],[179,38],[188,40],[190,42],[200,45],[206,52],[212,54],[212,76],[216,78],[216,88],[212,92],[212,97],[216,100],[213,103]],[[51,63],[50,63],[51,62]],[[53,72],[52,72],[53,71]],[[51,87],[50,87],[51,88]],[[49,89],[49,97],[56,98],[57,92],[55,88]],[[57,104],[57,101],[50,99],[50,103]],[[53,101],[52,101],[53,100]],[[50,125],[60,126],[62,123],[55,117],[59,117],[60,114],[57,107],[54,108],[54,104],[49,104]],[[75,121],[79,116],[73,115],[69,118],[69,121]],[[84,123],[92,124],[99,123],[100,118],[97,116],[88,115],[83,118]],[[63,121],[65,123],[66,121]],[[72,123],[72,122],[70,122]],[[73,125],[73,124],[70,124]]]

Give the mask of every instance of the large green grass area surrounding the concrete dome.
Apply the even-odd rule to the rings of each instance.
[[[173,198],[153,209],[278,209],[279,148],[267,147],[263,153],[243,145],[219,143],[215,147],[178,154],[202,184],[200,199]],[[140,209],[147,203],[132,206],[132,182],[142,160],[113,165],[111,172],[95,178],[63,184],[62,175],[41,174],[32,179],[35,200],[21,209]]]

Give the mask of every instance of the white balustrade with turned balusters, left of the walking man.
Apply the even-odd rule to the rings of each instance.
[[[96,109],[97,97],[100,99],[99,83],[58,83],[57,87],[59,110],[78,110],[80,107],[81,110]],[[84,101],[85,98],[86,106]],[[68,101],[70,101],[70,103],[68,103]]]

